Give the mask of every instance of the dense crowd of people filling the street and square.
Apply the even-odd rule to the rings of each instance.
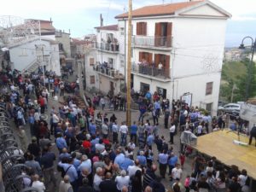
[[[63,104],[49,108],[48,89],[54,90],[52,96],[64,95],[59,92],[62,80],[54,73],[49,76],[53,79],[49,87],[40,72],[20,74],[6,68],[1,77],[0,105],[14,119],[25,164],[31,167],[26,174],[32,176],[33,183],[26,184],[40,192],[247,191],[247,171],[239,172],[236,166],[225,170],[214,158],[196,155],[192,174],[183,176],[192,148],[186,146],[177,154],[174,136],[178,127],[179,131],[190,130],[198,136],[210,131],[212,118],[199,108],[189,108],[180,101],[170,103],[157,92],[151,95],[148,91],[138,98],[140,116],[128,127],[115,113],[96,113],[98,105],[104,110],[103,97],[93,98],[89,107],[81,107],[73,96],[67,96]],[[120,97],[115,99],[119,101],[115,102],[117,109],[122,110]],[[46,111],[49,119],[45,118]],[[145,113],[151,113],[152,119]],[[217,125],[223,127],[223,119],[221,123]],[[28,143],[26,127],[32,143]],[[159,135],[164,128],[169,129],[170,136]],[[61,183],[58,177],[62,177]]]

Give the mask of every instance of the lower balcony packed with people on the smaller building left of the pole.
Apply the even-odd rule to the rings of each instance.
[[[125,79],[125,76],[122,73],[119,73],[119,70],[113,68],[96,65],[93,67],[93,70],[111,79]]]

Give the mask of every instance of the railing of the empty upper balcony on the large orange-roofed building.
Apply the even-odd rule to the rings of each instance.
[[[133,44],[135,46],[143,47],[162,47],[169,48],[172,46],[172,37],[171,36],[134,36]]]

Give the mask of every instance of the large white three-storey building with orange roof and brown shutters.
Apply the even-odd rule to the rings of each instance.
[[[192,100],[192,106],[216,114],[226,21],[230,16],[209,1],[133,10],[131,82],[134,90],[159,91],[171,101],[185,94]],[[120,29],[125,29],[126,37],[128,14],[115,18]]]

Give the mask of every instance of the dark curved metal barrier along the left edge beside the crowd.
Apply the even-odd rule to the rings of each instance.
[[[8,113],[0,106],[0,163],[5,186],[5,191],[1,192],[38,192],[31,187],[30,168],[24,164],[23,152],[17,146]]]

